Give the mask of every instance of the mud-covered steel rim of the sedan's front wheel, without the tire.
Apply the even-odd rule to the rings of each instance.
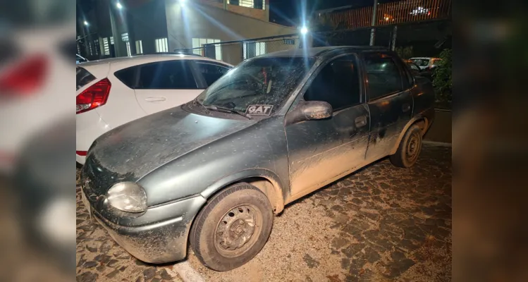
[[[250,250],[262,229],[262,214],[252,204],[230,209],[216,224],[214,247],[224,257],[237,257]]]

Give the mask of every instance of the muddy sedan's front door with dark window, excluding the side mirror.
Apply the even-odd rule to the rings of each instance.
[[[302,99],[328,102],[332,116],[286,125],[290,200],[363,166],[370,118],[358,66],[357,57],[347,55],[321,67]]]

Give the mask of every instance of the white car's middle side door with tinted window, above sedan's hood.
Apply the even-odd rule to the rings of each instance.
[[[134,92],[146,114],[185,104],[205,88],[193,75],[189,60],[147,63],[138,75]]]

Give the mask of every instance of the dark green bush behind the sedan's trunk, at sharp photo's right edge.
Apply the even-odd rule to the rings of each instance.
[[[453,98],[453,50],[444,49],[440,53],[441,61],[433,73],[433,86],[438,102],[450,103]]]

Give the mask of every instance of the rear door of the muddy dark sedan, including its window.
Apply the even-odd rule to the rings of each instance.
[[[412,77],[391,54],[362,54],[371,128],[367,161],[386,157],[412,116]]]

